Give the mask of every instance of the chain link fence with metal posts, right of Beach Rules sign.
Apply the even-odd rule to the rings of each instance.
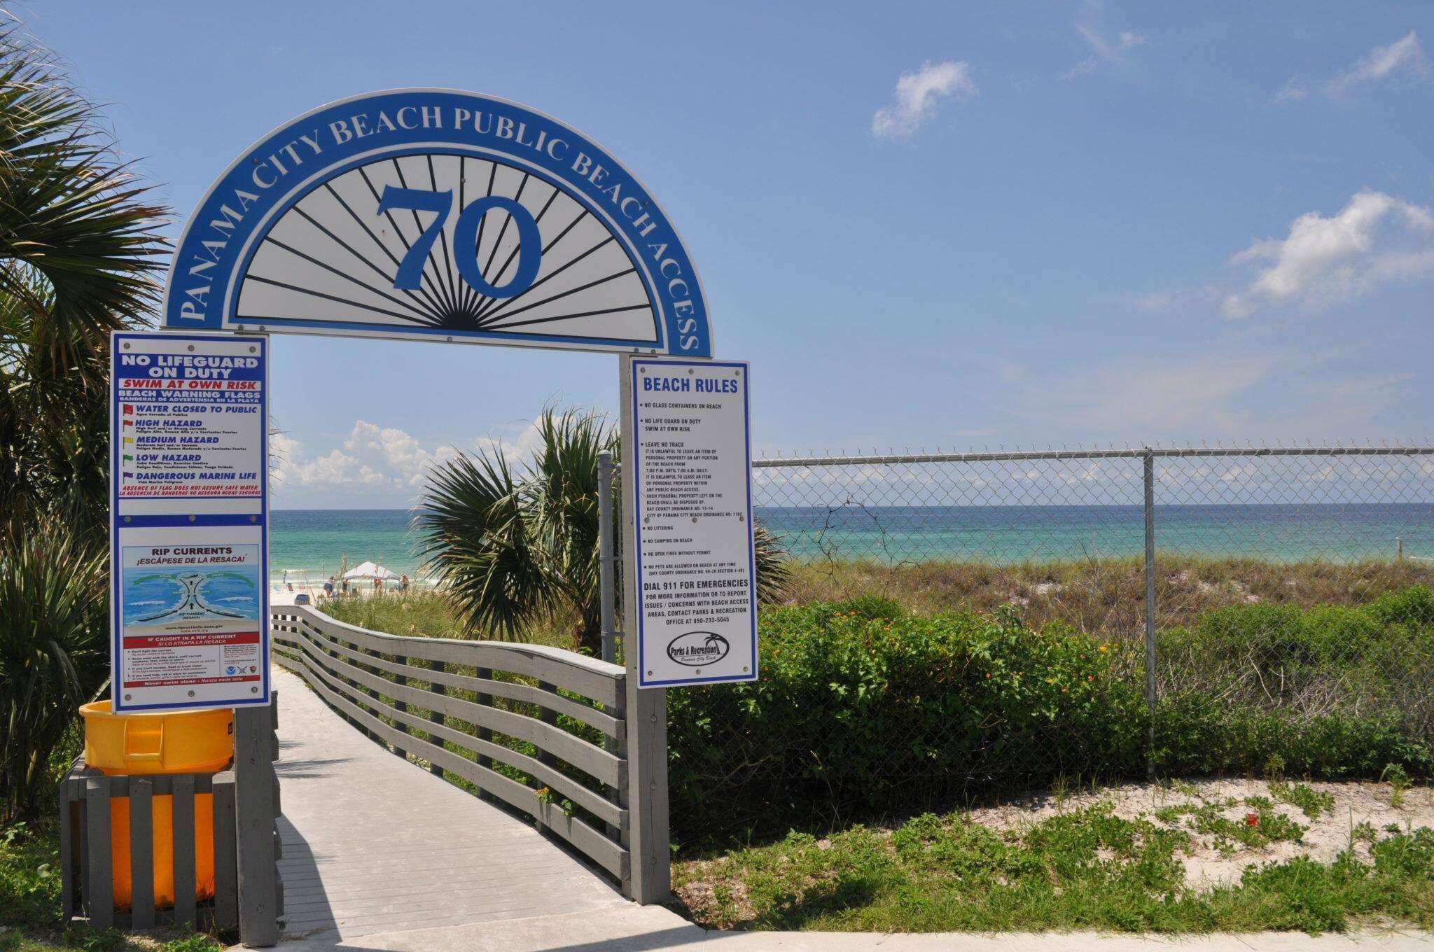
[[[909,707],[902,717],[868,710],[888,754],[847,780],[885,791],[878,810],[1074,774],[1428,767],[1434,601],[1414,586],[1434,582],[1434,446],[776,456],[754,463],[753,493],[757,520],[789,553],[793,606],[843,602],[862,615],[876,596],[889,599],[869,602],[878,615],[898,605],[964,612],[967,625],[1020,619],[1010,644],[975,638],[962,655],[972,674],[954,688],[975,698],[985,680],[1010,677],[1015,700],[998,718],[964,723],[959,698],[935,692],[889,698]],[[833,652],[847,618],[827,619]],[[780,665],[769,652],[792,635],[763,637],[783,642],[763,647],[767,680]],[[896,649],[862,644],[872,657]],[[1031,671],[1005,672],[999,651]],[[1103,667],[1081,674],[1086,654],[1061,667],[1055,651],[1098,652]],[[919,690],[882,664],[892,692]],[[1045,675],[1054,692],[1071,671],[1084,707],[1031,687]],[[850,688],[830,677],[832,691]],[[860,725],[842,711],[792,723],[803,727],[763,725],[776,738],[731,731],[723,743],[750,748],[710,770],[687,764],[688,776],[850,806],[830,761],[836,734]]]

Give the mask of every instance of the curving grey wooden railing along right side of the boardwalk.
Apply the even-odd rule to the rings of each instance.
[[[394,753],[531,816],[632,895],[627,671],[543,645],[367,631],[271,612],[272,657]]]

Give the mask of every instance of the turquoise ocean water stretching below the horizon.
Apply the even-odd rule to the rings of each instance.
[[[1140,506],[766,506],[757,519],[792,555],[879,562],[992,563],[1119,558],[1144,551]],[[321,581],[347,556],[417,578],[406,509],[280,509],[270,519],[272,581]],[[1172,555],[1272,562],[1434,559],[1434,503],[1156,506]]]

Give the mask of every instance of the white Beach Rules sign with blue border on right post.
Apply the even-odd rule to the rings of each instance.
[[[627,363],[638,684],[754,681],[747,364]]]

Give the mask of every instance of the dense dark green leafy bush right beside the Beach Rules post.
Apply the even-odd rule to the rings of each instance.
[[[678,839],[911,811],[971,790],[1141,763],[1114,645],[1011,612],[882,599],[766,614],[761,678],[670,695]]]

